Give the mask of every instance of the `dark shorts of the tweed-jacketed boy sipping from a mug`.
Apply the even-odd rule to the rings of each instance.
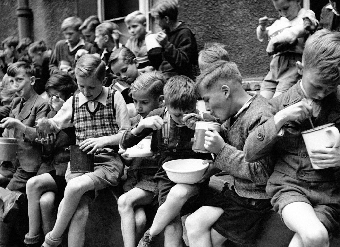
[[[205,205],[223,209],[223,214],[212,228],[237,244],[255,243],[261,221],[272,208],[270,199],[240,197],[234,190],[229,190],[227,185]]]

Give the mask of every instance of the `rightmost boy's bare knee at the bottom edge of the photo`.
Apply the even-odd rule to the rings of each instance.
[[[301,239],[305,247],[328,247],[329,237],[325,227],[319,229],[308,229]]]

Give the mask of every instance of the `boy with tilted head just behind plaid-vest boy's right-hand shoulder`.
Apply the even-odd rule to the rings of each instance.
[[[117,79],[113,80],[109,88],[114,88],[115,84],[119,84],[120,81],[123,81],[128,84],[127,86],[130,86],[140,75],[135,54],[126,47],[119,48],[112,52],[108,61],[108,66],[117,76]],[[133,117],[137,115],[135,106],[133,105],[133,99],[131,95],[129,95],[129,88],[124,88],[120,92],[123,95],[125,103],[128,105],[129,116]]]

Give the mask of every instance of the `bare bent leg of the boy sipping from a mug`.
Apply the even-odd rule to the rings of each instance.
[[[190,247],[211,247],[210,230],[223,214],[218,207],[203,206],[188,216],[185,221]]]

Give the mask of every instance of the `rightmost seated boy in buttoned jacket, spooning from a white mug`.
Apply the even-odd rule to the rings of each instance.
[[[312,150],[308,157],[301,132],[334,122],[340,125],[340,33],[320,30],[305,44],[298,81],[270,101],[260,125],[245,145],[253,162],[273,150],[278,158],[266,191],[286,226],[296,232],[290,246],[329,246],[340,220],[340,148]],[[321,168],[314,170],[310,159]]]

